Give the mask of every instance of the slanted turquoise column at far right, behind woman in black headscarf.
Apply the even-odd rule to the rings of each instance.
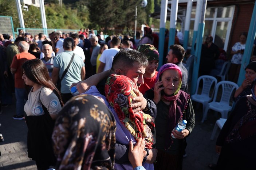
[[[253,12],[252,12],[252,18],[251,18],[251,23],[248,31],[248,36],[245,44],[245,49],[244,49],[244,55],[242,62],[241,62],[241,69],[239,73],[239,78],[237,81],[238,86],[241,86],[245,79],[245,67],[249,64],[250,57],[252,54],[252,47],[253,47],[253,41],[255,39],[255,34],[256,34],[256,4],[254,4]]]

